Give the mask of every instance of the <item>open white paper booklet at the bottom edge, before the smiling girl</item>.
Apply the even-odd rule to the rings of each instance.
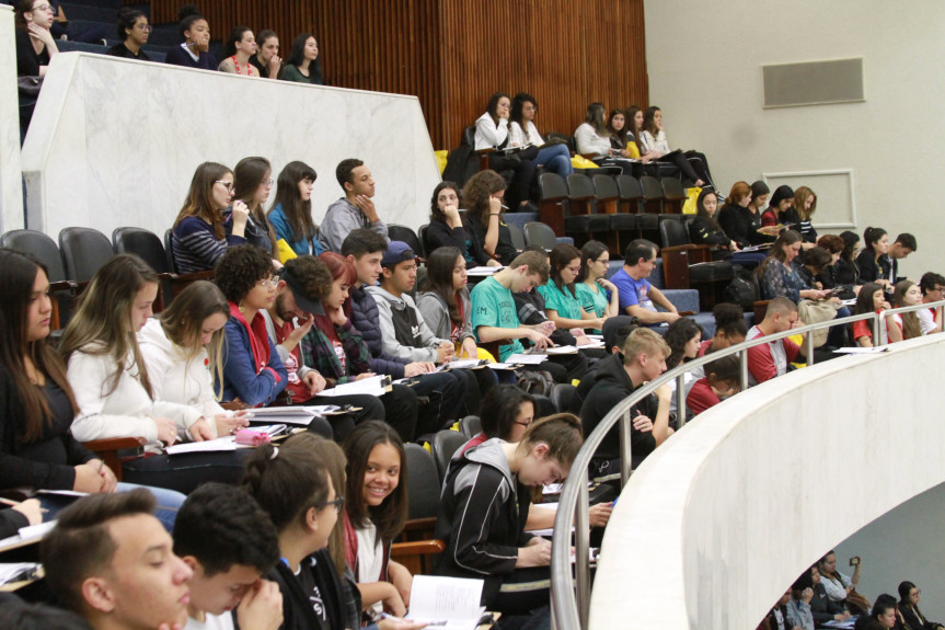
[[[482,580],[414,575],[407,619],[442,630],[475,630],[485,612]]]

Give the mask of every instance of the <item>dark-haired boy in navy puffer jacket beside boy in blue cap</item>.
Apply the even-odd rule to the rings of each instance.
[[[361,333],[371,351],[371,368],[378,374],[387,374],[394,379],[419,377],[411,389],[418,397],[428,399],[418,412],[417,434],[423,435],[439,429],[454,420],[462,404],[441,405],[442,401],[464,401],[465,392],[460,391],[460,381],[453,375],[435,373],[436,364],[425,357],[423,360],[389,354],[384,350],[385,340],[381,334],[380,308],[367,287],[373,287],[381,276],[381,262],[388,251],[388,242],[370,230],[354,230],[342,244],[342,255],[346,256],[358,274],[358,286],[349,289],[350,319]],[[347,307],[346,307],[347,308]],[[463,389],[465,380],[462,381]],[[442,409],[441,409],[442,406]]]

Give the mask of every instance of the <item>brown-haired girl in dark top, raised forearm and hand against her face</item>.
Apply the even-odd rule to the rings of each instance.
[[[476,265],[508,265],[518,255],[511,232],[502,220],[506,182],[495,171],[480,171],[463,187],[469,253]]]

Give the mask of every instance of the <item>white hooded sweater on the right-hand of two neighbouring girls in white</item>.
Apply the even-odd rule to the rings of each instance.
[[[138,333],[138,345],[148,366],[154,398],[195,409],[210,425],[210,431],[216,433],[214,416],[227,413],[227,410],[220,406],[214,396],[214,375],[210,373],[207,351],[201,347],[196,356],[187,359],[184,350],[168,339],[157,319],[148,320]],[[186,434],[180,437],[189,439]]]

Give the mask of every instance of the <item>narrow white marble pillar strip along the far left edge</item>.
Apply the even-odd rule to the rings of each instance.
[[[13,9],[0,4],[0,231],[23,227]]]

